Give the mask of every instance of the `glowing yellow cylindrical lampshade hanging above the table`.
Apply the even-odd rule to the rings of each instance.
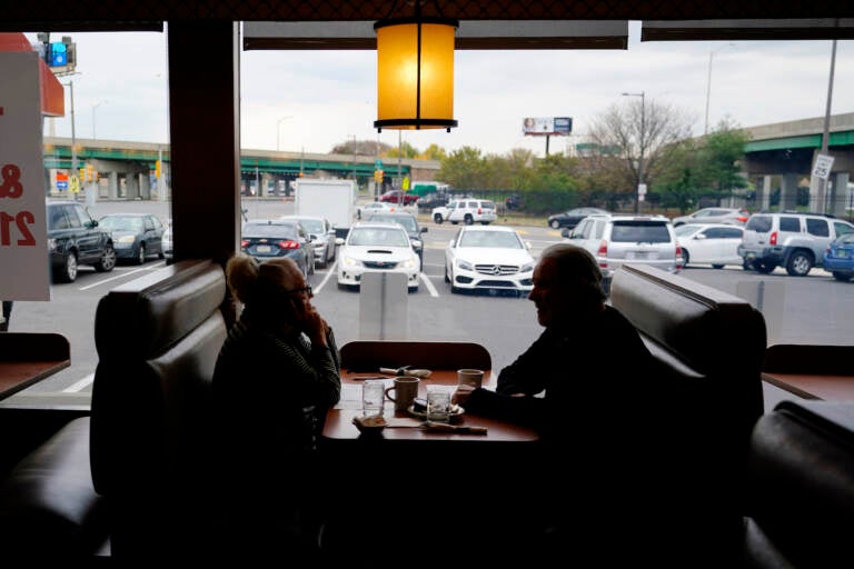
[[[398,19],[377,31],[377,120],[396,130],[447,129],[454,120],[456,20]]]

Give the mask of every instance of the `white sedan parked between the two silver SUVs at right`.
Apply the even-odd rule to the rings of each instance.
[[[738,246],[744,228],[728,223],[685,223],[673,229],[682,249],[682,266],[708,263],[715,269],[742,264]]]

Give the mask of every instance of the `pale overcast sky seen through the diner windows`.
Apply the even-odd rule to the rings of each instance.
[[[457,51],[459,126],[450,133],[377,133],[375,51],[241,51],[241,146],[327,153],[356,138],[544,156],[545,138],[522,133],[525,117],[572,117],[570,137],[549,138],[549,153],[564,152],[610,106],[637,104],[639,98],[622,93],[642,91],[647,104],[685,113],[695,134],[704,131],[706,106],[709,130],[721,120],[752,127],[825,114],[831,40],[640,42],[639,30],[630,22],[627,50]],[[73,81],[76,136],[168,143],[166,33],[70,36],[78,73],[60,80]],[[66,117],[47,120],[47,136],[71,136],[70,107],[67,97]],[[854,112],[851,40],[837,42],[832,90],[831,113],[845,112]]]

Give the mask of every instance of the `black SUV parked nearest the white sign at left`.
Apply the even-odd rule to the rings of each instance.
[[[48,253],[53,280],[73,282],[80,264],[91,264],[99,272],[116,267],[112,234],[98,227],[82,204],[50,201],[48,209]]]

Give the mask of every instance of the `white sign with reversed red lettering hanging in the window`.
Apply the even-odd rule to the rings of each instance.
[[[0,52],[0,300],[50,300],[39,54]]]

